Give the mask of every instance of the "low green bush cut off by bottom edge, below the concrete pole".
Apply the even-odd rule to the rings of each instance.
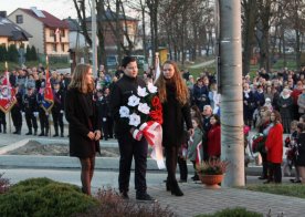
[[[198,215],[196,217],[263,217],[263,214],[255,211],[249,211],[245,208],[235,207],[227,208],[214,214],[209,215]]]

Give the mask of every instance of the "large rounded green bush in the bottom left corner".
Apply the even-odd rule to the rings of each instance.
[[[49,178],[32,178],[0,195],[0,216],[71,216],[96,207],[98,202],[78,187]]]

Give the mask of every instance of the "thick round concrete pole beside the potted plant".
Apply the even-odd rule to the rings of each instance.
[[[241,2],[218,0],[220,14],[221,158],[223,186],[244,186]]]

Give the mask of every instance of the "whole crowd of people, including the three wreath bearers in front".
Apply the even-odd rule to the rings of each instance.
[[[120,152],[118,183],[122,196],[128,198],[130,165],[135,158],[136,197],[154,199],[146,192],[147,141],[145,137],[134,140],[135,128],[124,125],[118,115],[119,107],[127,103],[138,85],[155,82],[158,87],[162,104],[167,190],[176,196],[183,195],[178,183],[188,179],[186,159],[190,159],[196,167],[197,158],[210,161],[221,157],[221,95],[214,75],[207,71],[193,78],[187,71],[180,72],[177,63],[167,61],[162,64],[160,76],[155,80],[151,69],[139,76],[136,60],[126,56],[114,75],[101,71],[94,81],[91,68],[80,64],[72,76],[52,71],[50,82],[54,106],[49,114],[41,106],[46,83],[45,70],[39,66],[10,72],[10,83],[15,89],[18,101],[11,110],[15,127],[13,133],[21,134],[24,114],[29,130],[27,135],[38,135],[39,117],[39,136],[48,136],[49,115],[52,114],[53,136],[64,136],[65,114],[70,123],[70,153],[81,161],[81,179],[86,194],[91,194],[90,183],[95,154],[99,152],[98,141],[116,137]],[[296,178],[292,182],[305,183],[305,68],[272,72],[261,69],[254,76],[245,75],[242,83],[244,124],[265,136],[264,146],[259,151],[263,159],[260,178],[266,179],[265,183],[282,182],[283,135],[288,134],[285,145],[291,164],[284,170],[290,173],[292,165],[296,166]],[[80,104],[84,106],[80,107]],[[0,132],[7,133],[4,113],[0,114]],[[197,152],[200,143],[201,149]],[[180,180],[176,179],[177,164]],[[199,180],[197,173],[192,179]]]

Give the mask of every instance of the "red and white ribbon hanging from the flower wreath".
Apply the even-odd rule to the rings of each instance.
[[[140,125],[140,132],[152,147],[150,157],[157,162],[158,168],[166,168],[162,152],[162,126],[157,122],[147,122]]]

